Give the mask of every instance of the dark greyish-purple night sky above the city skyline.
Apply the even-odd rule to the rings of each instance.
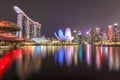
[[[89,28],[120,24],[120,0],[0,0],[0,20],[16,22],[13,6],[42,24],[42,35],[53,37],[59,28],[84,34]]]

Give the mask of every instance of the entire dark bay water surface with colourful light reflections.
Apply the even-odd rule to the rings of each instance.
[[[0,49],[2,80],[120,80],[120,46]]]

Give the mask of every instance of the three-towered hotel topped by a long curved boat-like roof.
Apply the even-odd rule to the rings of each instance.
[[[32,39],[41,36],[41,24],[30,19],[19,7],[13,6],[17,13],[17,24],[21,30],[16,32],[19,38]]]

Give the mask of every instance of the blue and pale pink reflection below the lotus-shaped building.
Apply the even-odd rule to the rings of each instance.
[[[73,46],[63,46],[55,54],[55,60],[62,66],[65,63],[70,66],[72,63],[72,58],[76,53],[74,53]],[[77,57],[76,57],[77,58]]]

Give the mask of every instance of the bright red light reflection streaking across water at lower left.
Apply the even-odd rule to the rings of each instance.
[[[0,79],[11,66],[12,62],[17,58],[20,58],[21,53],[22,49],[12,50],[5,53],[5,55],[0,59]]]

